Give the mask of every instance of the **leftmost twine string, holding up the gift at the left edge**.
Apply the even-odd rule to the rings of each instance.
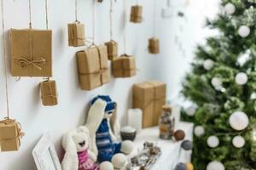
[[[4,59],[4,75],[5,75],[5,95],[6,95],[6,108],[7,108],[7,119],[9,119],[9,93],[8,93],[8,76],[7,76],[7,59],[6,59],[6,41],[4,34],[4,15],[3,15],[3,0],[1,0],[2,9],[2,33],[3,33],[3,59]]]

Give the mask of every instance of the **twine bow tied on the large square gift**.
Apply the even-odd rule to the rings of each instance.
[[[25,68],[29,65],[36,67],[38,70],[42,70],[43,66],[46,64],[46,59],[42,57],[38,57],[32,60],[26,59],[24,57],[20,57],[19,59],[15,59],[15,62],[20,65],[20,67]]]

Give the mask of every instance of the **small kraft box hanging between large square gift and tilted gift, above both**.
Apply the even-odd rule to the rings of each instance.
[[[75,22],[67,25],[68,28],[68,46],[79,47],[85,45],[84,25]]]

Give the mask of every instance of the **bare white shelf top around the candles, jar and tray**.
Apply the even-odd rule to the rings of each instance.
[[[179,122],[178,129],[182,129],[185,133],[185,139],[193,139],[194,124],[190,122]],[[159,138],[159,127],[144,128],[137,134],[134,141],[135,149],[131,156],[137,155],[137,151],[143,148],[145,141],[154,142],[161,148],[162,154],[158,161],[155,162],[151,170],[172,170],[177,165],[177,162],[190,162],[191,151],[186,151],[181,148],[182,141],[176,142],[172,139],[164,140]]]

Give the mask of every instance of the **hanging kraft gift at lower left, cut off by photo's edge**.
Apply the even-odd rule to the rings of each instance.
[[[20,148],[20,123],[12,119],[0,121],[0,151],[14,151]]]

